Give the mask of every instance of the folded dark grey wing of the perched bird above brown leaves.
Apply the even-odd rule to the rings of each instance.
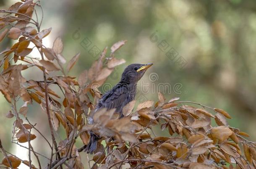
[[[123,106],[128,103],[129,93],[126,86],[115,86],[109,92],[102,96],[102,99],[97,105],[97,109],[100,108],[116,108],[116,112],[120,113]]]

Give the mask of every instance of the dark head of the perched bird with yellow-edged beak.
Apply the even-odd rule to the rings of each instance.
[[[125,68],[122,74],[121,81],[124,83],[137,83],[146,70],[152,66],[153,63],[150,64],[131,64]]]

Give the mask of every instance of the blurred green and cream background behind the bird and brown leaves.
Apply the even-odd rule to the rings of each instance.
[[[14,2],[18,1],[0,0],[0,6],[8,9]],[[222,108],[232,116],[231,126],[256,140],[255,0],[43,0],[42,7],[42,29],[52,27],[44,43],[50,47],[57,36],[62,37],[67,60],[81,52],[71,76],[78,76],[98,58],[92,50],[127,39],[115,53],[126,63],[107,83],[117,83],[130,63],[154,63],[142,80],[155,86],[170,83],[171,93],[164,92],[167,100],[180,97]],[[10,43],[3,41],[1,50]],[[39,71],[24,76],[42,78]],[[139,91],[137,99],[157,101],[155,86],[149,93]],[[0,106],[0,137],[11,150],[13,120],[4,116],[10,107],[2,95]],[[50,134],[39,106],[30,107],[28,116]],[[37,140],[36,145],[45,144]]]

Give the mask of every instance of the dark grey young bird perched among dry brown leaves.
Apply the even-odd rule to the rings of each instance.
[[[107,110],[115,108],[115,112],[120,114],[119,118],[123,118],[123,107],[135,99],[137,82],[152,65],[153,63],[136,63],[127,66],[122,73],[120,81],[99,100],[94,110],[95,114],[102,108],[107,108]],[[93,124],[92,117],[88,118],[88,123]],[[97,141],[100,137],[92,131],[90,131],[89,134],[90,140],[85,151],[87,151],[88,154],[92,154],[97,148]]]

